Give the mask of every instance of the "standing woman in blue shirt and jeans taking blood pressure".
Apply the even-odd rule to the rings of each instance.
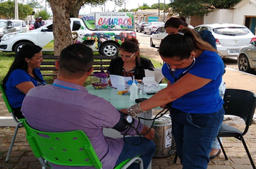
[[[216,49],[191,29],[170,34],[160,44],[168,87],[127,110],[129,115],[172,102],[172,133],[184,169],[207,168],[214,138],[224,117],[219,95],[224,62]]]

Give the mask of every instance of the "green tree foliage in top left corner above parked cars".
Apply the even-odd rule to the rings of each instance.
[[[6,19],[14,19],[15,5],[14,1],[4,1],[0,3],[0,16]],[[19,19],[26,19],[32,14],[33,9],[29,5],[18,4]]]

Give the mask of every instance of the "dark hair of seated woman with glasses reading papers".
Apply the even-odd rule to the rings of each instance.
[[[134,52],[138,52],[137,54],[137,60],[140,62],[140,44],[138,42],[137,39],[132,38],[132,39],[127,39],[126,41],[124,41],[120,47],[119,50],[123,50],[124,52],[130,52],[130,53],[134,53]]]

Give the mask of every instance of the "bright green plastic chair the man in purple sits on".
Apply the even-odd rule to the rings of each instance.
[[[94,166],[102,168],[90,140],[81,130],[70,132],[42,132],[30,127],[27,120],[21,119],[27,131],[27,141],[42,168],[51,168],[47,162],[68,166]],[[125,160],[115,169],[127,168],[134,162],[143,168],[139,157]]]

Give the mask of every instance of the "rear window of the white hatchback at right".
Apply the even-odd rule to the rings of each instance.
[[[230,35],[230,36],[240,36],[244,34],[249,34],[250,30],[244,27],[223,27],[213,29],[215,34]]]

